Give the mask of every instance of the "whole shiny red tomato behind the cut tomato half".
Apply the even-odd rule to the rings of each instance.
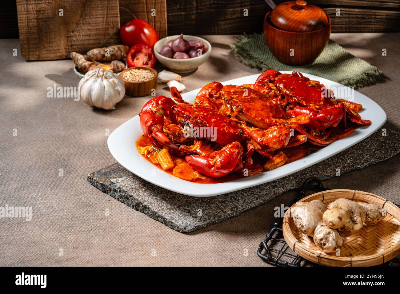
[[[135,44],[144,44],[153,48],[160,38],[156,30],[148,22],[135,18],[124,24],[120,29],[122,44],[129,48]]]

